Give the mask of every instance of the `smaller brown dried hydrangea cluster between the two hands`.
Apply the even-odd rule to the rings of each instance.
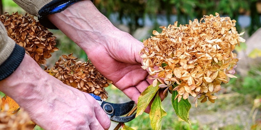
[[[80,91],[93,93],[100,96],[102,99],[107,99],[107,92],[104,87],[108,87],[111,80],[106,79],[98,72],[98,70],[89,62],[76,62],[78,58],[72,56],[62,55],[55,62],[54,70],[51,74],[57,79],[61,80],[64,84],[75,87]]]

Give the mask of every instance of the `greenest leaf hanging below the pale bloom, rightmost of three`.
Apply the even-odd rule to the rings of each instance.
[[[172,106],[177,116],[191,125],[189,120],[189,109],[191,108],[191,104],[188,102],[188,99],[185,100],[183,97],[181,98],[180,102],[178,102],[177,99],[174,100],[177,95],[178,95],[177,91],[172,92],[172,97],[171,97]]]

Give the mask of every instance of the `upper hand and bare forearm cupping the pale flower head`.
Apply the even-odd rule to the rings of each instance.
[[[137,104],[141,92],[152,84],[148,72],[141,68],[142,59],[138,55],[143,43],[113,26],[88,0],[48,18],[87,53],[103,76]]]

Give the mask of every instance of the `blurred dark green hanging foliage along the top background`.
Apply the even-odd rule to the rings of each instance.
[[[251,25],[248,33],[251,35],[261,27],[260,12],[256,9],[258,2],[260,0],[97,0],[95,5],[107,17],[117,13],[121,22],[123,18],[127,18],[130,33],[144,26],[145,15],[158,27],[158,14],[166,15],[169,23],[173,23],[170,21],[170,15],[177,15],[177,21],[184,24],[188,23],[189,19],[200,19],[203,15],[215,15],[215,12],[218,12],[235,20],[238,20],[239,15],[250,15]]]

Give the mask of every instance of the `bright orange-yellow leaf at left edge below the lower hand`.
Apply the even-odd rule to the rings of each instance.
[[[9,114],[15,114],[13,111],[19,108],[19,105],[9,96],[5,96],[2,98],[2,105],[1,105],[1,110],[5,111],[5,105],[9,107],[7,110],[7,113]],[[17,111],[16,111],[17,112]]]

